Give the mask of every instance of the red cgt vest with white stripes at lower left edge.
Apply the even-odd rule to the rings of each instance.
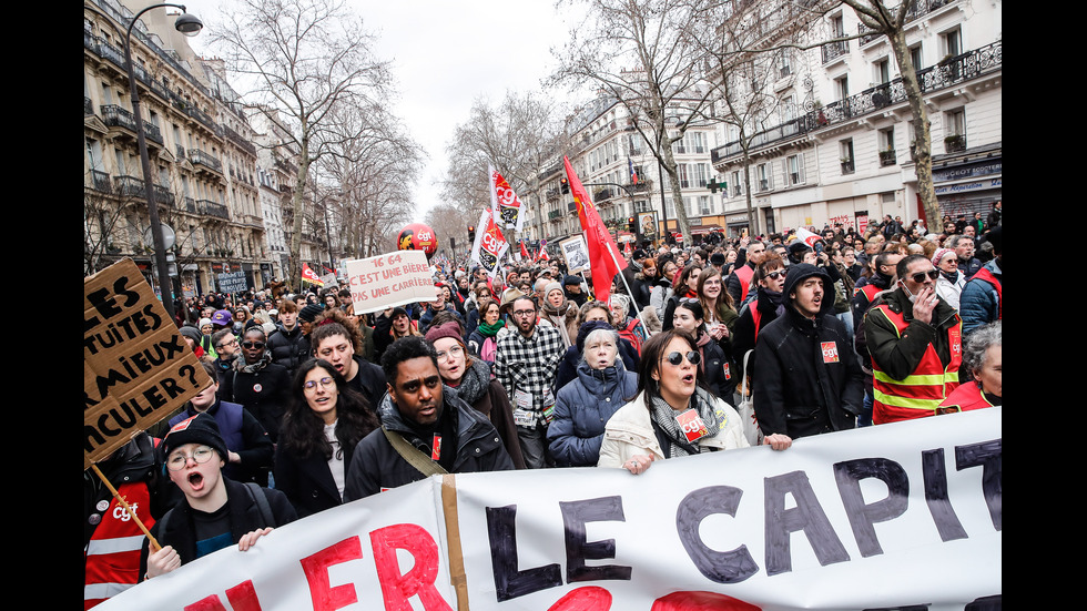
[[[143,525],[154,526],[148,483],[123,483],[118,493],[132,507]],[[140,547],[144,534],[116,497],[101,513],[102,521],[83,551],[83,609],[100,604],[140,582]]]

